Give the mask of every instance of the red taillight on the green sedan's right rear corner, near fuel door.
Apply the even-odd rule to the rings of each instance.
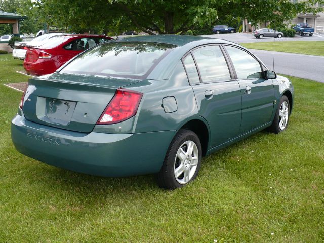
[[[136,115],[142,96],[142,93],[136,91],[117,89],[97,124],[120,123]]]

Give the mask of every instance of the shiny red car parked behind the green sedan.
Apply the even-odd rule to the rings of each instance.
[[[109,39],[112,38],[89,34],[53,37],[39,47],[27,48],[24,68],[28,74],[37,76],[53,73],[80,52]]]

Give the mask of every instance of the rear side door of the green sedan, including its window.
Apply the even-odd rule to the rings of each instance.
[[[219,45],[192,50],[183,63],[193,89],[200,116],[210,127],[210,148],[239,134],[241,93]]]

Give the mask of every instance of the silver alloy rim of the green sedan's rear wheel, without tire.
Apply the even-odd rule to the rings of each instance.
[[[194,176],[198,165],[198,147],[193,141],[184,142],[174,160],[174,176],[178,183],[186,184]]]

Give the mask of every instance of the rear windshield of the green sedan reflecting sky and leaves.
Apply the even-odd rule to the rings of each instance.
[[[175,47],[154,42],[109,42],[84,52],[60,72],[145,78]]]

